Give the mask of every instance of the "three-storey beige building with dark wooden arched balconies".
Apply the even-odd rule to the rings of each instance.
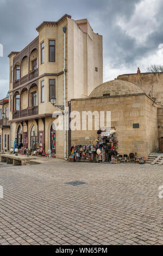
[[[68,132],[52,126],[54,108],[71,99],[88,96],[103,82],[102,36],[89,22],[64,15],[57,22],[44,21],[38,36],[22,51],[11,52],[9,122],[11,144],[48,149],[68,157]]]

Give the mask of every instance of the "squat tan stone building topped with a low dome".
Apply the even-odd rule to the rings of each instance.
[[[89,97],[71,100],[72,111],[78,111],[80,117],[83,111],[88,114],[89,111],[99,114],[101,111],[110,111],[111,127],[116,130],[118,141],[116,150],[122,155],[137,153],[137,156],[148,157],[158,148],[157,104],[133,83],[118,79],[102,83]],[[91,116],[88,116],[87,121],[90,121]],[[92,130],[88,124],[86,129],[82,130],[82,123],[80,130],[69,131],[71,145],[96,144],[95,121],[97,117],[93,119]],[[82,122],[85,125],[85,120],[82,119]],[[99,129],[102,128],[99,122]]]

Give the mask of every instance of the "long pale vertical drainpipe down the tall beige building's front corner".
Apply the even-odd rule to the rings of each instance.
[[[64,107],[65,107],[65,113],[64,113],[64,116],[65,116],[65,130],[64,130],[64,137],[65,137],[65,160],[66,159],[66,26],[63,27],[63,31],[64,31]]]

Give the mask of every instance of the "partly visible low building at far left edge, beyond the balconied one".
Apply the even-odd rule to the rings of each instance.
[[[0,151],[10,149],[9,97],[0,100]]]

